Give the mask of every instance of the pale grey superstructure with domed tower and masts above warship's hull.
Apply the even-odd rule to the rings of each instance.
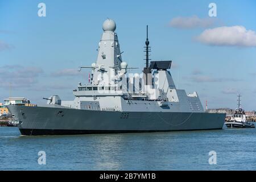
[[[94,110],[113,111],[203,111],[196,92],[187,94],[185,90],[176,89],[171,73],[167,70],[171,68],[171,61],[151,61],[148,64],[148,37],[143,73],[126,77],[127,69],[130,68],[122,61],[113,20],[107,19],[103,30],[96,63],[90,67],[81,67],[92,69],[91,84],[79,84],[73,92],[75,101],[64,101],[61,105],[75,109],[91,107]],[[141,107],[141,104],[147,106]]]

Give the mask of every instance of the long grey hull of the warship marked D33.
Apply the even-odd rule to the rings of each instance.
[[[225,114],[80,110],[10,105],[22,135],[145,133],[222,129]]]

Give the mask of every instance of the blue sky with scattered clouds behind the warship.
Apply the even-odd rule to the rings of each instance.
[[[40,2],[46,17],[38,16]],[[208,15],[211,2],[216,18]],[[148,24],[151,59],[173,60],[179,89],[196,90],[209,107],[234,108],[239,92],[242,106],[256,110],[255,7],[255,1],[0,0],[0,100],[9,97],[10,82],[12,96],[36,104],[52,94],[72,100],[77,83],[88,82],[88,72],[75,70],[96,60],[102,23],[111,18],[129,66],[144,65]],[[241,26],[248,40],[232,34]],[[217,40],[219,31],[228,33]]]

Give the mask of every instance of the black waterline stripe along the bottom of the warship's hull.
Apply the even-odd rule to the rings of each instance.
[[[200,130],[221,130],[200,129]],[[168,131],[195,131],[195,130],[48,130],[48,129],[19,129],[22,135],[82,135],[82,134],[117,134],[117,133],[153,133]]]

